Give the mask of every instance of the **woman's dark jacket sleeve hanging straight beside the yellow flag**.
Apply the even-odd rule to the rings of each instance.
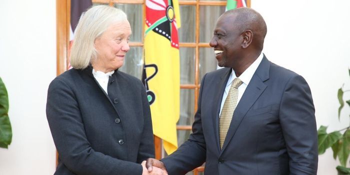
[[[141,163],[147,158],[154,158],[154,141],[152,119],[149,109],[149,102],[147,100],[146,90],[141,81],[139,81],[139,85],[141,86],[140,89],[143,107],[143,131],[137,155],[137,162]]]

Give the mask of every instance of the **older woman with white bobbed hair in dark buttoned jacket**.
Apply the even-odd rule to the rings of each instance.
[[[91,7],[77,24],[73,68],[53,79],[47,92],[46,115],[59,154],[55,174],[148,173],[139,164],[154,157],[145,89],[118,71],[130,34],[126,14],[106,5]]]

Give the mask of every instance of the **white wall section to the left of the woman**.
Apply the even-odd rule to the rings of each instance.
[[[55,147],[45,105],[56,75],[55,0],[1,0],[0,77],[9,95],[12,143],[0,174],[53,174]]]

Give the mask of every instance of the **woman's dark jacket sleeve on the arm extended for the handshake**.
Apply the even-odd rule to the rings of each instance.
[[[86,94],[88,95],[88,94]],[[59,159],[75,174],[141,174],[142,166],[91,148],[78,101],[69,85],[55,78],[48,87],[46,116]]]

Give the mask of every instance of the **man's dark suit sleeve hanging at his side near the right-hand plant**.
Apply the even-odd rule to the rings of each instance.
[[[316,174],[317,129],[310,88],[303,77],[291,77],[281,98],[279,119],[289,155],[289,174]]]

